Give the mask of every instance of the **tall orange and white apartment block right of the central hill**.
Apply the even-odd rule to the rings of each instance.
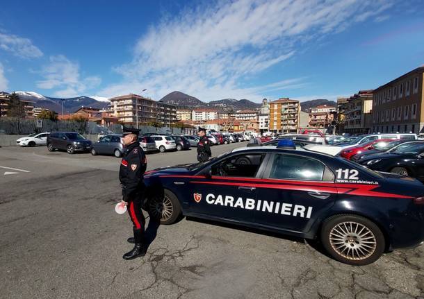
[[[269,103],[270,131],[274,133],[297,133],[300,119],[300,103],[288,98]]]

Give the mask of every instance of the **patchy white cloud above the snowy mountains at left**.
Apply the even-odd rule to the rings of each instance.
[[[100,85],[101,78],[90,76],[81,78],[79,64],[67,59],[64,55],[50,57],[50,64],[41,71],[44,80],[37,82],[37,87],[42,89],[60,89],[54,96],[67,98],[80,96],[92,88]]]

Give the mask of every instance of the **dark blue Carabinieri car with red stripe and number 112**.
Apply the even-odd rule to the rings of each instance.
[[[421,182],[302,148],[236,148],[148,171],[145,185],[149,214],[163,224],[193,216],[320,239],[346,264],[424,240]]]

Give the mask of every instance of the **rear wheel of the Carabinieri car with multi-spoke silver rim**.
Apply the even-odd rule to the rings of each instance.
[[[353,214],[335,215],[326,219],[320,239],[329,255],[353,266],[375,262],[386,248],[380,228],[373,221]]]

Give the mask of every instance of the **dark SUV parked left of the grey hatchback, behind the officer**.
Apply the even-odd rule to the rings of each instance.
[[[54,132],[47,137],[47,149],[65,150],[67,153],[75,151],[90,151],[91,141],[75,132]]]

